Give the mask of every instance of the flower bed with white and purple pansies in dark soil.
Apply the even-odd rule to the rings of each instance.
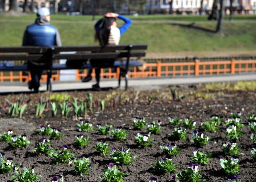
[[[193,89],[196,90],[196,88]],[[2,153],[1,155],[5,159],[4,162],[8,163],[8,166],[19,163],[10,172],[3,173],[0,171],[0,181],[12,181],[15,176],[11,177],[11,175],[18,175],[13,170],[19,171],[18,168],[21,168],[20,165],[22,164],[23,170],[26,167],[28,172],[32,173],[33,171],[33,174],[38,177],[35,181],[40,180],[42,182],[56,181],[56,177],[59,181],[61,179],[72,182],[101,181],[100,177],[106,179],[103,171],[107,172],[114,169],[114,165],[121,173],[120,175],[123,176],[122,179],[131,182],[147,182],[149,179],[151,181],[157,179],[161,182],[189,181],[182,179],[180,176],[182,172],[188,175],[189,172],[200,173],[197,175],[198,181],[201,179],[210,182],[228,181],[227,176],[230,175],[229,179],[231,180],[239,177],[242,182],[247,180],[253,182],[255,179],[255,158],[251,152],[254,142],[251,139],[253,134],[250,132],[254,129],[254,124],[250,122],[251,128],[249,128],[248,119],[251,113],[256,111],[255,99],[251,99],[255,98],[255,94],[253,92],[234,92],[225,93],[225,95],[214,97],[214,99],[196,98],[178,102],[171,100],[168,91],[163,90],[162,93],[164,92],[167,93],[166,97],[157,91],[150,91],[151,95],[155,95],[150,104],[147,99],[148,91],[140,91],[139,94],[135,93],[133,97],[133,92],[130,90],[126,93],[129,95],[126,99],[121,96],[122,93],[114,95],[111,91],[93,92],[92,95],[97,95],[97,98],[92,98],[92,106],[90,106],[90,102],[87,102],[91,100],[92,95],[86,92],[68,93],[77,97],[77,100],[83,100],[88,104],[87,114],[83,117],[85,119],[83,122],[73,117],[75,115],[73,110],[78,112],[79,108],[72,107],[72,99],[67,102],[67,109],[72,107],[70,112],[66,110],[66,113],[62,115],[61,111],[58,110],[53,117],[52,107],[48,102],[46,104],[48,108],[45,107],[43,112],[36,116],[35,103],[40,97],[42,100],[42,97],[50,98],[50,96],[47,94],[29,95],[33,99],[27,103],[28,106],[22,114],[22,119],[31,123],[31,126],[35,126],[36,129],[24,133],[22,130],[12,128],[10,124],[8,129],[12,129],[12,131],[8,131],[8,129],[0,131],[1,135],[4,132],[7,136],[8,132],[11,135],[16,134],[10,138],[11,145],[8,142],[0,141],[0,152],[5,154]],[[16,102],[17,97],[19,95],[12,95],[9,99],[10,102]],[[2,100],[5,98],[6,96],[1,96]],[[102,107],[100,104],[102,102],[98,98],[106,98],[106,101],[104,100],[105,107]],[[60,103],[62,106],[64,105],[63,100]],[[79,102],[76,104],[80,105]],[[4,118],[11,118],[8,112],[9,106],[5,107],[3,104],[0,108],[0,117],[2,118],[0,122],[3,122]],[[82,109],[81,113],[84,112],[85,108]],[[218,116],[218,119],[221,120],[220,123],[214,122],[214,119],[213,122],[211,121],[210,116],[213,114]],[[180,121],[176,121],[175,125],[170,116],[177,117]],[[14,115],[14,117],[19,117],[19,114]],[[136,118],[134,119],[134,117]],[[234,122],[230,122],[228,117],[234,119],[240,117],[241,120],[235,119]],[[142,123],[138,123],[140,119]],[[87,124],[83,128],[81,124],[85,123]],[[201,123],[203,124],[201,125]],[[181,130],[181,126],[185,127],[185,130]],[[100,127],[106,128],[100,130]],[[205,128],[207,129],[205,130]],[[211,128],[214,128],[213,131]],[[230,133],[234,128],[244,136],[233,133],[232,138]],[[185,131],[185,138],[174,137],[173,131],[178,133],[183,130]],[[20,143],[13,144],[17,138],[21,141],[27,139],[30,143],[26,141],[24,144],[23,142],[24,146],[19,147]],[[140,138],[140,141],[136,138]],[[147,141],[150,141],[148,145]],[[104,147],[108,146],[109,150],[105,153],[96,150],[95,146],[99,142],[103,143]],[[83,145],[80,145],[81,143]],[[146,145],[144,146],[144,144]],[[231,147],[238,151],[232,153]],[[171,152],[173,150],[174,152]],[[204,154],[209,157],[209,160],[200,160]],[[65,157],[61,158],[62,155]],[[231,157],[232,155],[234,156]],[[237,158],[237,156],[239,157]],[[74,167],[75,164],[79,165],[79,160],[83,161],[83,168],[88,168],[88,170],[81,171],[79,167]],[[227,172],[227,168],[224,170],[221,163],[224,163],[225,160],[230,160],[230,163],[234,164],[238,163],[240,165],[237,169],[239,172],[235,170]],[[164,169],[161,169],[163,166]],[[21,171],[23,170],[21,169]],[[235,174],[237,176],[234,176]]]

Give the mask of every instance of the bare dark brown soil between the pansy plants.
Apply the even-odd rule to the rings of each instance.
[[[180,90],[187,91],[189,95],[189,90],[199,90],[199,88],[180,88]],[[216,92],[216,91],[215,91]],[[242,133],[245,134],[244,137],[239,138],[236,143],[242,145],[240,152],[245,155],[240,155],[239,164],[240,164],[240,181],[245,182],[246,180],[254,181],[255,179],[255,159],[251,155],[251,148],[253,146],[253,141],[250,138],[250,129],[248,128],[247,118],[251,112],[256,111],[255,104],[255,93],[253,92],[227,92],[223,91],[224,95],[215,96],[211,99],[204,100],[193,95],[187,96],[183,102],[173,101],[169,95],[168,89],[160,90],[150,90],[150,91],[140,91],[138,99],[134,99],[134,90],[128,90],[123,92],[121,90],[106,91],[106,92],[91,92],[93,96],[96,96],[98,100],[103,98],[106,99],[106,108],[104,111],[100,111],[99,107],[96,107],[98,104],[94,105],[93,113],[88,112],[86,119],[93,123],[93,126],[96,126],[97,123],[105,124],[109,123],[116,126],[123,126],[127,130],[127,139],[119,143],[114,142],[110,136],[102,136],[97,133],[97,130],[91,131],[89,133],[82,132],[85,135],[88,135],[89,145],[81,147],[79,149],[74,149],[74,137],[81,133],[78,131],[77,121],[73,118],[73,113],[70,112],[67,119],[61,117],[60,111],[58,111],[57,116],[51,116],[50,104],[49,108],[43,112],[43,117],[35,116],[35,102],[38,102],[40,96],[47,97],[49,94],[31,94],[28,95],[28,98],[32,98],[29,102],[28,107],[23,115],[23,118],[26,122],[33,124],[36,127],[36,130],[31,133],[26,133],[31,144],[26,148],[12,148],[7,143],[0,142],[0,152],[5,152],[5,157],[13,157],[15,163],[22,163],[24,167],[31,168],[32,165],[35,165],[35,173],[41,174],[42,178],[40,180],[50,181],[53,176],[61,173],[64,175],[65,182],[98,182],[101,181],[99,176],[102,176],[102,169],[106,168],[107,165],[112,162],[109,155],[104,156],[97,153],[93,149],[98,138],[104,139],[109,143],[111,147],[116,148],[130,148],[132,156],[137,155],[133,161],[133,164],[129,165],[118,165],[118,169],[124,170],[128,175],[123,179],[129,182],[147,182],[149,177],[154,175],[157,177],[159,182],[170,182],[171,175],[173,173],[164,173],[157,174],[152,172],[153,166],[152,163],[155,163],[156,160],[160,160],[164,154],[162,153],[159,145],[163,143],[170,144],[175,142],[178,148],[181,149],[180,153],[177,156],[173,156],[172,162],[180,167],[176,172],[180,172],[182,169],[189,167],[190,160],[188,157],[192,157],[194,146],[190,142],[191,134],[188,134],[187,141],[173,141],[170,138],[166,137],[166,134],[171,133],[175,126],[171,126],[168,122],[168,116],[177,116],[178,118],[184,118],[188,116],[190,119],[197,122],[196,126],[198,129],[202,121],[206,121],[212,114],[218,114],[225,121],[225,118],[230,116],[230,111],[242,112],[242,123],[244,123]],[[118,94],[116,94],[118,93]],[[123,93],[123,94],[122,94]],[[87,92],[67,92],[71,97],[78,97],[78,100],[85,100]],[[117,95],[121,95],[121,99],[118,100]],[[214,92],[213,92],[214,94]],[[152,105],[148,105],[147,96],[153,95],[154,100]],[[11,95],[9,100],[10,102],[16,102],[19,95]],[[3,101],[7,96],[0,96],[0,99]],[[117,100],[115,106],[113,107],[114,99]],[[130,100],[128,99],[130,98]],[[132,103],[135,100],[134,103]],[[72,99],[69,100],[72,102]],[[3,102],[2,102],[3,103]],[[0,118],[9,118],[8,107],[1,104],[0,108]],[[142,133],[144,130],[135,130],[132,125],[132,118],[134,116],[145,117],[147,122],[156,121],[160,119],[162,121],[161,132],[158,134],[151,134],[150,138],[154,138],[154,145],[148,146],[142,149],[137,149],[135,143],[135,136],[137,133]],[[2,120],[0,120],[1,122]],[[66,163],[60,163],[57,165],[52,165],[52,158],[44,154],[38,154],[33,152],[33,147],[35,142],[42,138],[37,132],[37,129],[41,124],[48,122],[52,128],[61,129],[61,133],[65,134],[62,139],[52,139],[51,146],[56,150],[62,149],[62,145],[66,144],[69,146],[69,151],[73,151],[76,157],[80,157],[81,154],[87,153],[90,156],[90,161],[93,163],[92,170],[88,175],[81,177],[79,175],[74,175],[71,173],[71,168]],[[10,129],[12,126],[10,124]],[[1,129],[0,129],[1,130]],[[191,132],[188,129],[189,132]],[[23,130],[14,131],[17,134],[23,134]],[[0,132],[1,134],[3,131]],[[210,142],[201,148],[200,151],[206,151],[206,153],[212,153],[210,158],[211,163],[208,165],[200,166],[202,178],[209,182],[221,182],[226,181],[227,175],[223,172],[220,166],[220,158],[225,158],[226,156],[222,153],[221,143],[227,141],[226,137],[226,126],[224,123],[220,126],[220,132],[204,132],[213,137]],[[47,136],[45,136],[47,137]],[[12,181],[10,177],[11,173],[0,174],[0,181]]]

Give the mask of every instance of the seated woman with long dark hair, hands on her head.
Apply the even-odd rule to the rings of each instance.
[[[116,17],[123,20],[125,23],[121,27],[117,27]],[[107,13],[98,20],[94,26],[96,31],[95,41],[99,41],[101,46],[106,45],[118,45],[121,35],[130,27],[132,20],[116,13]],[[111,67],[114,64],[115,59],[105,60],[90,60],[92,66]],[[82,79],[82,82],[88,82],[92,80],[92,69],[88,71],[88,75]],[[100,68],[95,69],[96,84],[92,85],[94,90],[101,90],[100,82]]]

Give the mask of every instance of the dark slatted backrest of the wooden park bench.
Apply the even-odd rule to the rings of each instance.
[[[125,44],[118,46],[26,46],[26,47],[0,47],[0,61],[14,60],[82,60],[100,58],[123,58],[145,56],[147,44]],[[63,54],[76,51],[76,54]]]

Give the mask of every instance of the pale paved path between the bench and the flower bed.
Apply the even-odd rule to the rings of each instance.
[[[252,74],[240,74],[240,75],[218,75],[218,76],[200,76],[200,77],[173,77],[173,78],[130,78],[128,81],[128,87],[138,88],[138,89],[157,89],[168,87],[169,85],[181,85],[181,84],[197,84],[197,83],[207,83],[207,82],[232,82],[232,81],[243,81],[243,80],[255,80],[256,73]],[[64,90],[90,90],[95,81],[92,80],[87,83],[81,83],[78,81],[73,82],[53,82],[53,91],[64,91]],[[46,90],[45,82],[42,82],[40,91]],[[100,82],[100,86],[116,88],[118,86],[118,81],[116,79],[104,80]],[[125,81],[124,78],[121,80],[121,89],[124,89]],[[29,92],[27,83],[1,83],[0,82],[0,94],[8,93],[19,93],[19,92]]]

